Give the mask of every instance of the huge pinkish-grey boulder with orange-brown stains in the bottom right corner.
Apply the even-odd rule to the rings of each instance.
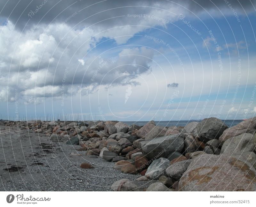
[[[180,191],[256,191],[256,170],[230,155],[204,154],[192,160],[179,182]]]

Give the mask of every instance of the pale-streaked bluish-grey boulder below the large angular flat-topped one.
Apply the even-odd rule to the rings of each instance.
[[[145,174],[145,176],[151,180],[158,180],[165,174],[165,170],[170,166],[170,161],[166,158],[159,158],[154,160]]]

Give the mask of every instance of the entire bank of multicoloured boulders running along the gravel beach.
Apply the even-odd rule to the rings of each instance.
[[[142,127],[111,121],[19,124],[42,130],[52,141],[80,145],[77,151],[114,162],[124,175],[140,175],[117,180],[114,191],[255,191],[256,117],[248,120],[231,128],[217,118],[185,127],[154,121]]]

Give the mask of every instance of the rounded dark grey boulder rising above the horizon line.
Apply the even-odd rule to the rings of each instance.
[[[196,129],[200,141],[206,143],[212,139],[219,139],[223,131],[228,129],[228,126],[220,119],[212,117],[203,119],[196,125]]]

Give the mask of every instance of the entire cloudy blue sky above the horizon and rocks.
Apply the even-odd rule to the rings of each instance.
[[[255,0],[3,0],[1,119],[253,117],[255,7]]]

